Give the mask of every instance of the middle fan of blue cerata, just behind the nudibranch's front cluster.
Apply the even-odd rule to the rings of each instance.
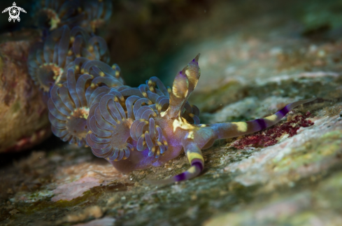
[[[53,134],[69,143],[85,146],[87,118],[92,103],[111,87],[123,87],[120,68],[78,57],[67,67],[66,82],[50,91],[49,119]]]

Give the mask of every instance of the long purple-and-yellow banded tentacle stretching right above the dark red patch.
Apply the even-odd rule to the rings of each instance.
[[[279,122],[289,111],[293,108],[306,104],[315,100],[316,98],[304,99],[287,104],[283,109],[266,118],[259,118],[247,122],[222,122],[209,125],[215,132],[215,139],[227,139],[230,137],[241,136],[245,134],[252,134],[267,127],[271,127]]]

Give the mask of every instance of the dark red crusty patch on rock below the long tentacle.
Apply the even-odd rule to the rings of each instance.
[[[289,115],[287,122],[280,123],[255,134],[241,136],[241,139],[234,141],[230,146],[238,149],[243,149],[245,147],[262,148],[273,146],[284,136],[291,137],[296,135],[300,127],[310,127],[313,125],[313,122],[308,120],[310,116],[310,112],[305,113],[305,115]]]

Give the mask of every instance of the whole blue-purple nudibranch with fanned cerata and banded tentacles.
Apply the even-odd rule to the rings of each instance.
[[[66,8],[71,6],[64,3]],[[111,12],[101,1],[97,6],[92,17],[95,25]],[[73,12],[70,15],[77,15]],[[69,16],[64,18],[66,23]],[[177,74],[172,88],[166,88],[156,77],[137,88],[128,87],[120,78],[120,68],[107,64],[108,49],[102,38],[90,36],[80,27],[64,25],[31,50],[28,64],[36,84],[50,91],[52,132],[63,141],[87,144],[94,155],[104,157],[124,173],[159,167],[184,151],[190,169],[151,182],[163,184],[198,176],[204,168],[201,149],[211,147],[216,139],[270,127],[292,108],[315,99],[288,104],[266,118],[201,125],[199,109],[187,102],[201,74],[198,59],[199,55]]]

